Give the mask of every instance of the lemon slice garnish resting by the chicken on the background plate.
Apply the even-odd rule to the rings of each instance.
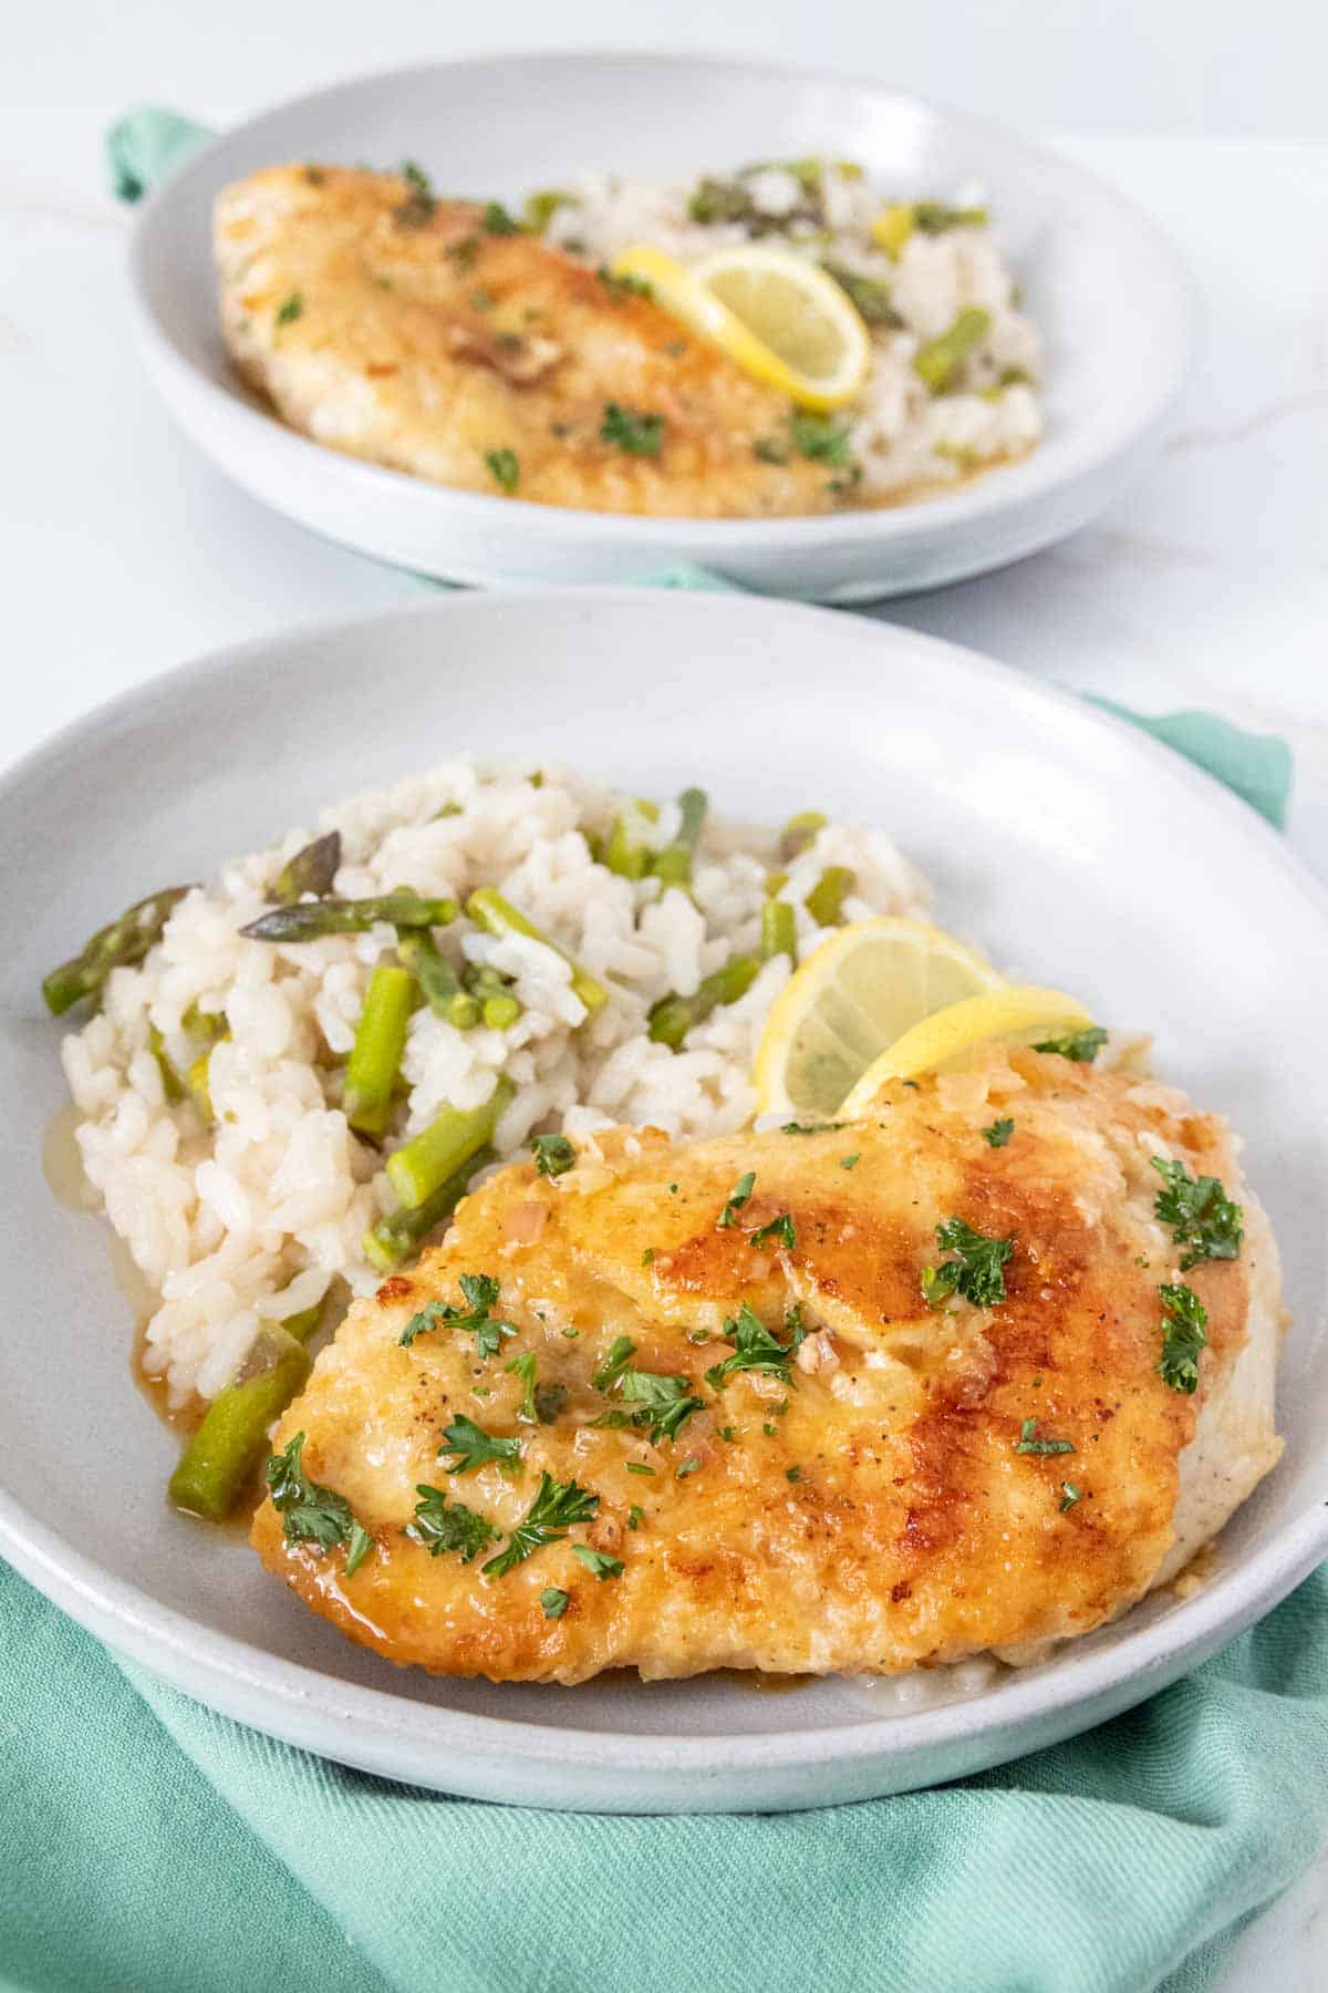
[[[739,243],[685,267],[651,243],[613,261],[743,373],[800,409],[840,409],[872,365],[872,341],[834,277],[790,249]]]

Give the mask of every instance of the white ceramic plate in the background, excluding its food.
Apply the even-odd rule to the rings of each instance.
[[[689,177],[834,153],[912,197],[982,179],[1047,335],[1047,438],[948,498],[794,520],[643,520],[452,492],[321,448],[261,411],[217,331],[211,203],[287,159],[414,157],[450,193],[520,197],[581,165]],[[147,207],[147,365],[193,438],[279,512],[462,582],[621,582],[701,562],[747,588],[862,602],[1031,554],[1137,474],[1189,357],[1171,247],[1127,201],[1001,126],[862,84],[673,56],[504,56],[370,76],[227,132]]]

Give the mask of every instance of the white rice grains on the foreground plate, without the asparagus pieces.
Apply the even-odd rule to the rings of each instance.
[[[438,817],[444,803],[460,811]],[[466,919],[438,931],[454,967],[492,963],[514,977],[524,1010],[510,1030],[456,1030],[416,1010],[408,1090],[382,1150],[348,1128],[340,1086],[368,977],[394,959],[394,931],[299,947],[239,935],[265,911],[309,827],[189,893],[143,965],[113,971],[100,1014],[64,1040],[64,1066],[84,1172],[159,1295],[143,1367],[165,1379],[171,1405],[215,1397],[263,1319],[313,1307],[336,1278],[354,1291],[376,1285],[360,1242],[396,1202],[384,1154],[444,1106],[480,1106],[500,1072],[516,1082],[496,1130],[500,1160],[524,1156],[534,1130],[585,1136],[613,1122],[653,1122],[709,1136],[751,1120],[753,1052],[788,961],[767,963],[739,1002],[691,1030],[681,1052],[651,1042],[647,1014],[669,991],[691,995],[731,955],[757,951],[776,839],[711,817],[691,897],[661,893],[657,879],[633,883],[591,857],[583,833],[603,837],[619,809],[621,797],[565,769],[544,769],[534,785],[510,765],[452,759],[323,813],[319,829],[342,839],[338,895],[408,883],[464,899],[480,885],[498,887],[611,991],[587,1016],[552,949],[492,939]],[[677,805],[637,827],[667,843]],[[820,939],[802,901],[826,865],[848,865],[856,877],[848,919],[926,911],[926,881],[888,837],[828,825],[786,867],[780,889],[800,953]],[[149,1042],[159,1032],[171,1066],[187,1070],[201,1050],[185,1024],[191,1006],[225,1018],[229,1030],[207,1068],[211,1126],[189,1100],[167,1102]]]

